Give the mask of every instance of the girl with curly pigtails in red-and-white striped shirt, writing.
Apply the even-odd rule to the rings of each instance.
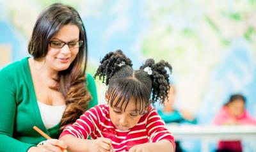
[[[84,112],[76,123],[65,127],[60,139],[68,151],[174,151],[172,133],[150,106],[168,97],[165,67],[172,67],[153,59],[147,59],[140,70],[131,66],[121,50],[110,52],[100,61],[95,77],[108,85],[107,103]],[[88,135],[93,140],[88,140]]]

